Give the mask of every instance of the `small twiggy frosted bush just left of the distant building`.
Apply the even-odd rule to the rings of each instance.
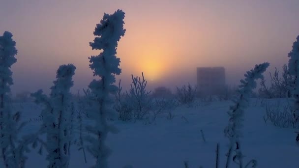
[[[176,97],[181,104],[191,104],[196,99],[196,87],[192,87],[191,84],[177,87]]]

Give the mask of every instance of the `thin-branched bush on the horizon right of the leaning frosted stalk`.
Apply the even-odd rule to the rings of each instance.
[[[272,75],[270,74],[270,87],[266,86],[266,80],[261,80],[261,88],[259,88],[258,93],[261,98],[285,98],[289,97],[290,92],[290,82],[292,82],[293,76],[288,72],[288,66],[283,65],[282,76],[279,76],[279,71],[275,67],[275,71]]]

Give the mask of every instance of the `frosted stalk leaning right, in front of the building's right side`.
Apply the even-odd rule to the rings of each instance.
[[[242,158],[244,156],[241,153],[239,141],[239,138],[242,136],[241,128],[243,126],[242,121],[244,120],[244,109],[249,104],[248,101],[252,89],[256,88],[257,84],[255,80],[264,78],[263,73],[266,71],[268,66],[268,62],[255,65],[254,69],[247,71],[246,74],[244,74],[245,80],[240,81],[241,84],[239,85],[238,89],[239,96],[235,97],[234,105],[230,107],[230,111],[228,112],[229,123],[228,126],[225,128],[225,136],[228,137],[230,140],[226,168],[229,167],[231,159],[233,159],[234,162],[239,164],[239,168],[244,168],[242,162]],[[235,155],[233,156],[233,158],[231,158],[233,151],[235,152]],[[256,161],[252,160],[248,164],[256,165]]]

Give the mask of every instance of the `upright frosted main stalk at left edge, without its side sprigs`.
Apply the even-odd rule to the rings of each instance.
[[[15,45],[10,32],[5,31],[0,36],[0,158],[5,168],[18,168],[21,159],[16,153],[17,120],[8,103],[10,85],[13,84],[10,67],[17,61]]]

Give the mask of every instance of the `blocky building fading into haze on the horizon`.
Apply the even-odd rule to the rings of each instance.
[[[220,95],[225,90],[224,67],[198,67],[197,91],[201,95]]]

